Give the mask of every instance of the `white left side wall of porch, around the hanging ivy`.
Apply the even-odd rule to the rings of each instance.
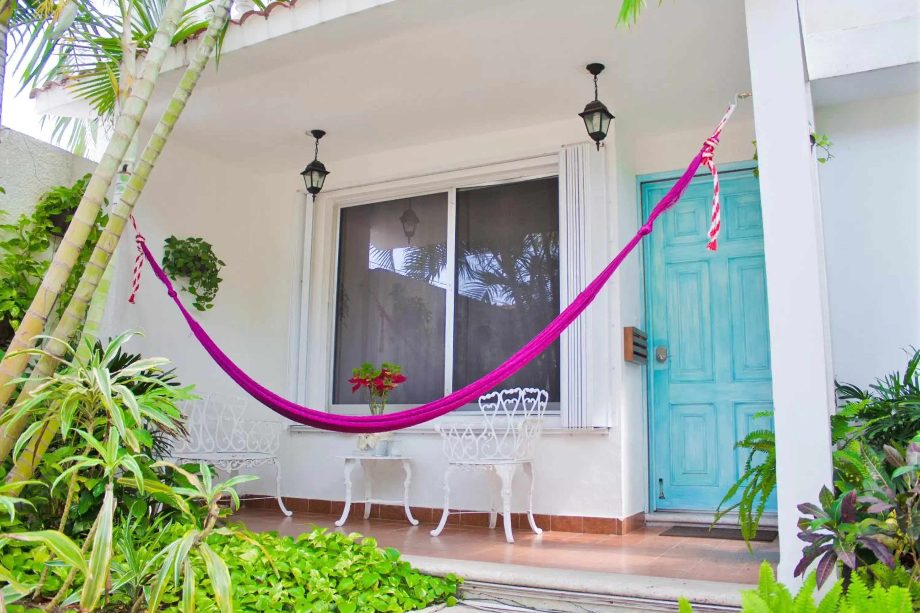
[[[280,196],[283,194],[283,198]],[[198,236],[226,263],[214,308],[197,312],[208,332],[236,362],[275,392],[284,392],[293,200],[270,177],[170,142],[134,211],[157,258],[164,239]],[[144,328],[144,353],[171,358],[183,382],[202,392],[232,385],[201,349],[166,289],[144,267],[137,303],[127,303],[134,264],[133,232],[119,256],[113,328]],[[188,295],[188,294],[186,294]],[[190,306],[191,301],[186,302]]]

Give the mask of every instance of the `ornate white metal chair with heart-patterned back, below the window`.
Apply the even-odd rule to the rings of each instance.
[[[527,520],[530,528],[537,534],[543,532],[534,521],[534,452],[543,430],[543,415],[548,401],[549,394],[535,388],[491,392],[479,398],[482,421],[466,424],[446,422],[435,426],[443,439],[448,464],[444,473],[444,511],[441,523],[431,530],[432,537],[441,534],[452,513],[489,513],[489,528],[495,528],[498,516],[497,494],[500,494],[505,539],[514,542],[512,481],[518,466],[522,467],[530,481],[527,494]],[[489,511],[450,510],[450,478],[458,468],[487,472],[491,500]]]

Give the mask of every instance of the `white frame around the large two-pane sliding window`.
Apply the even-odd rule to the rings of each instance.
[[[313,207],[310,230],[313,240],[304,254],[305,275],[300,306],[300,351],[297,368],[297,402],[313,408],[323,407],[335,414],[366,414],[360,404],[333,404],[336,281],[339,275],[339,237],[341,210],[385,200],[447,193],[447,240],[449,253],[455,250],[456,191],[467,187],[489,187],[507,183],[558,176],[558,153],[546,153],[498,164],[477,165],[443,173],[432,173],[392,181],[345,187],[321,193]],[[560,244],[559,273],[564,274],[566,246]],[[448,297],[454,294],[454,262],[448,258]],[[308,280],[309,279],[309,280]],[[444,322],[444,393],[452,392],[454,360],[454,300],[447,300]],[[307,343],[314,343],[307,346]],[[561,376],[561,372],[560,372]],[[415,404],[391,404],[394,411]],[[558,413],[558,411],[557,411]],[[551,418],[557,421],[558,416]],[[547,424],[552,426],[552,424]]]

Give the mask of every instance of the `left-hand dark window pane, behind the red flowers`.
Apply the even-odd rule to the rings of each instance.
[[[414,232],[400,221],[408,209]],[[341,211],[333,403],[365,403],[348,382],[364,361],[403,367],[390,403],[443,396],[446,262],[446,194]]]

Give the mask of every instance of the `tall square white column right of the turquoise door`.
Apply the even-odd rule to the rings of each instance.
[[[811,99],[796,0],[745,0],[764,211],[773,364],[779,580],[805,545],[796,505],[833,481],[834,411],[821,209],[809,144]],[[799,580],[800,583],[800,580]]]

